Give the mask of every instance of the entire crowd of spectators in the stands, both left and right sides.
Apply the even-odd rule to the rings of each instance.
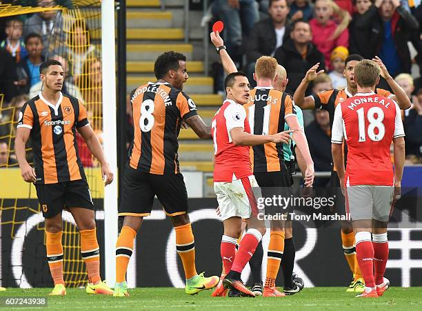
[[[50,8],[71,7],[70,0],[2,1]],[[350,54],[379,56],[392,77],[407,92],[412,107],[403,111],[407,163],[422,163],[422,5],[421,0],[211,0],[214,19],[225,23],[223,37],[238,68],[252,74],[255,61],[271,55],[288,72],[286,92],[294,90],[315,63],[321,74],[306,95],[345,88],[343,70]],[[58,44],[59,43],[59,44]],[[60,47],[60,48],[58,48]],[[57,10],[0,19],[0,152],[12,137],[25,101],[42,89],[39,66],[46,58],[61,61],[66,72],[63,93],[86,104],[101,140],[101,61],[90,41],[85,21],[73,21],[66,31]],[[216,91],[223,92],[223,70],[217,70]],[[381,88],[389,89],[385,81]],[[130,112],[130,109],[128,109]],[[329,120],[325,112],[303,112],[305,132],[317,171],[331,165]],[[128,118],[130,119],[130,118]],[[85,166],[97,165],[81,143]],[[12,154],[5,163],[14,164]],[[3,163],[3,164],[2,164]]]

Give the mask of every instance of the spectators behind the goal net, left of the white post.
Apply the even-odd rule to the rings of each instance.
[[[92,128],[101,141],[101,61],[99,51],[90,42],[90,30],[84,19],[70,19],[64,27],[57,5],[70,8],[70,0],[1,1],[23,6],[40,6],[44,12],[0,19],[0,152],[7,147],[7,159],[0,157],[0,168],[17,165],[13,150],[14,131],[23,104],[43,88],[39,66],[46,59],[60,61],[65,72],[63,94],[77,97],[88,110]],[[79,137],[81,138],[81,137]],[[79,139],[81,161],[97,166],[88,147]],[[31,157],[30,152],[27,152]],[[30,159],[28,159],[30,160]]]

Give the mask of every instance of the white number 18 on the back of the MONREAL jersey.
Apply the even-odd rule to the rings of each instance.
[[[366,141],[366,133],[365,133],[365,110],[363,108],[360,108],[356,110],[358,114],[358,126],[359,126],[359,143],[363,143]],[[376,118],[375,118],[376,114]],[[383,124],[384,119],[384,112],[379,107],[371,107],[368,109],[368,112],[366,113],[366,118],[368,119],[369,125],[368,125],[368,137],[372,141],[381,141],[385,135],[385,126]],[[375,134],[375,128],[376,128],[376,134]]]

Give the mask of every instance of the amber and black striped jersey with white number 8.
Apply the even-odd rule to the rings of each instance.
[[[195,103],[170,83],[148,82],[132,91],[134,141],[132,168],[150,174],[177,174],[181,123],[197,114]]]

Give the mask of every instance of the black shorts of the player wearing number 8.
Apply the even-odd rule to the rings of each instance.
[[[148,216],[156,195],[168,216],[188,212],[188,192],[181,173],[150,174],[126,165],[119,216]]]

